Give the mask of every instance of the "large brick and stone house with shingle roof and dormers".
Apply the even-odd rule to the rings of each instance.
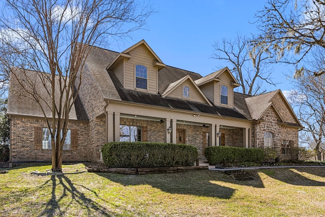
[[[70,114],[63,161],[99,160],[110,141],[186,143],[200,156],[206,146],[270,146],[290,159],[302,125],[281,90],[248,96],[234,91],[238,86],[228,68],[202,77],[167,66],[144,40],[120,53],[94,47]],[[19,91],[11,78],[11,161],[50,161],[44,115]]]

